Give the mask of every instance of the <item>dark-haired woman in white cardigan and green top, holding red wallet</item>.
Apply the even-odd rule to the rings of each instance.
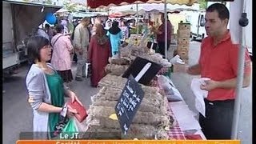
[[[57,71],[47,63],[51,57],[49,40],[34,36],[29,39],[27,46],[30,60],[33,62],[26,76],[26,88],[34,114],[34,138],[53,138],[50,132],[54,132],[54,126],[64,110],[64,95],[70,97],[72,102],[76,100],[81,105],[82,103],[77,95],[63,84]],[[70,107],[67,107],[66,112],[69,116],[77,113]]]

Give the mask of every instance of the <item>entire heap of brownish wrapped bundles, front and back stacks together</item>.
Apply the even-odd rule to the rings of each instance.
[[[109,59],[105,68],[106,76],[98,82],[101,90],[91,97],[92,104],[87,111],[86,134],[84,138],[91,139],[171,139],[168,132],[175,125],[175,120],[167,110],[167,98],[156,86],[139,84],[144,91],[144,97],[133,121],[127,131],[122,133],[115,106],[126,85],[127,78],[122,74],[128,69],[136,57],[146,58],[164,67],[171,64],[162,58],[161,54],[151,54],[146,46],[125,46],[120,48],[118,57]]]

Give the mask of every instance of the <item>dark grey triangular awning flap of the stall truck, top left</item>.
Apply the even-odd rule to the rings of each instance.
[[[21,44],[22,40],[26,38],[32,30],[37,29],[38,26],[45,21],[47,13],[55,13],[57,10],[62,8],[62,6],[53,6],[34,2],[2,2],[10,3],[13,11],[13,22],[18,24],[14,25],[15,46]]]

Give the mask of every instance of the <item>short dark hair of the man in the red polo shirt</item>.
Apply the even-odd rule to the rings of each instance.
[[[226,8],[224,4],[214,3],[206,9],[206,12],[213,12],[214,10],[218,12],[218,18],[220,18],[221,20],[224,20],[226,18],[230,19],[230,11]]]

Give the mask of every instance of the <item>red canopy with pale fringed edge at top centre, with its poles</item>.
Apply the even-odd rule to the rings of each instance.
[[[197,2],[197,0],[108,0],[108,1],[100,1],[100,0],[87,0],[87,6],[90,8],[98,8],[98,7],[110,7],[110,6],[122,6],[122,5],[128,5],[132,3],[137,4],[137,15],[138,15],[138,3],[164,3],[165,7],[165,58],[167,58],[167,7],[166,4],[179,4],[179,5],[186,5],[186,6],[192,6],[194,2]],[[138,24],[137,24],[138,26]],[[137,30],[138,35],[138,30]]]

